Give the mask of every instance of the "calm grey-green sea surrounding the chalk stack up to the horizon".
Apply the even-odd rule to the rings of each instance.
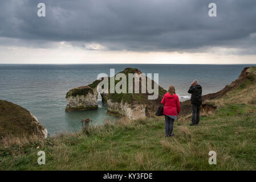
[[[8,65],[0,64],[0,99],[14,102],[31,111],[53,135],[63,131],[78,131],[80,119],[91,118],[94,125],[104,123],[107,107],[97,110],[65,113],[66,93],[71,88],[91,84],[99,73],[115,68],[138,68],[143,73],[159,73],[159,83],[165,89],[176,87],[181,100],[190,98],[187,90],[197,78],[203,94],[217,92],[235,80],[248,65],[152,65],[152,64],[82,64],[82,65]]]

